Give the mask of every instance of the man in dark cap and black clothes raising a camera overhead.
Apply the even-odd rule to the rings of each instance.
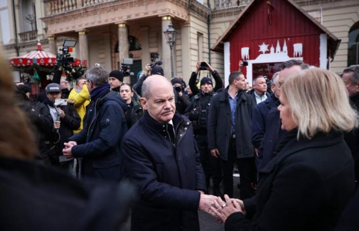
[[[212,79],[204,77],[201,80],[201,90],[196,86],[197,74],[200,70],[209,70],[212,72],[213,78],[216,82],[213,89]],[[221,76],[215,71],[207,62],[197,62],[196,71],[192,72],[189,80],[190,89],[193,92],[194,98],[190,106],[186,109],[185,115],[193,123],[194,139],[197,142],[200,150],[200,159],[206,176],[207,188],[210,185],[210,178],[213,180],[213,195],[222,196],[220,191],[220,183],[222,181],[222,173],[220,162],[211,156],[208,150],[207,140],[207,120],[208,107],[212,96],[215,95],[217,89],[222,88],[223,82]]]

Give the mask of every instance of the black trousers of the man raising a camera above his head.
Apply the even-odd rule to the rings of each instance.
[[[194,139],[200,151],[200,161],[205,172],[207,184],[209,184],[209,179],[212,177],[213,186],[220,186],[222,181],[221,162],[218,158],[214,158],[208,150],[207,135],[196,134]]]

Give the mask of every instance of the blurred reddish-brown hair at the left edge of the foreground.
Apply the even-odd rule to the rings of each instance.
[[[0,67],[0,157],[32,159],[36,155],[36,145],[29,128],[30,122],[15,106],[15,87],[1,47]]]

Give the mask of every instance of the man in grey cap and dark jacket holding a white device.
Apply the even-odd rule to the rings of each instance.
[[[60,162],[59,156],[62,156],[64,142],[73,135],[73,130],[79,128],[81,118],[72,105],[66,104],[65,101],[55,103],[56,100],[61,99],[61,94],[61,87],[58,84],[51,83],[46,86],[47,99],[44,104],[51,114],[53,123],[52,136],[46,138],[46,145],[51,164],[69,169],[73,161]]]

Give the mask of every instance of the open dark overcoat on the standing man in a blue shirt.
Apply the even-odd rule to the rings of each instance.
[[[235,109],[235,143],[237,158],[254,157],[251,142],[252,111],[255,103],[245,92],[238,92]],[[232,113],[228,101],[228,87],[212,97],[208,112],[208,149],[218,148],[220,158],[227,160],[232,134]]]

